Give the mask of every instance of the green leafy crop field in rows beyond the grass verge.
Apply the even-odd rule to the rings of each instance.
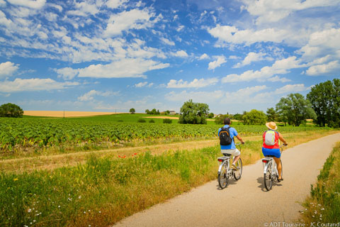
[[[138,117],[135,114],[87,118],[0,118],[0,154],[4,157],[18,151],[40,153],[50,148],[64,153],[65,149],[96,150],[145,141],[152,143],[156,140],[181,141],[214,138],[220,127],[215,124],[131,122],[136,118]],[[125,121],[120,122],[117,119]],[[234,128],[239,131],[240,135],[260,135],[266,130],[265,126],[235,125]],[[329,130],[329,128],[314,127],[280,127],[279,131],[293,133],[316,129]]]

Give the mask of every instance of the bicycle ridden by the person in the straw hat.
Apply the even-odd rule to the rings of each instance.
[[[283,151],[283,146],[285,145],[280,145],[280,153],[282,154]],[[267,155],[262,159],[263,162],[263,181],[264,181],[264,187],[266,187],[267,191],[270,191],[271,188],[273,187],[273,182],[280,182],[278,179],[278,169],[276,167],[276,162],[274,160],[275,157],[274,155]],[[281,163],[281,176],[280,178],[282,179],[283,177],[283,166],[282,166],[282,160],[280,160]]]

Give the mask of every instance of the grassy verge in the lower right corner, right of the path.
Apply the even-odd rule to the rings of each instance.
[[[301,222],[327,225],[340,221],[340,143],[331,152],[317,177],[317,184],[311,185],[310,196],[300,211]]]

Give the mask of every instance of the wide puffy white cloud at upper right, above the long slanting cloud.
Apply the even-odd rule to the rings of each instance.
[[[289,31],[276,28],[265,28],[259,31],[252,29],[239,30],[234,26],[220,26],[208,28],[208,33],[218,38],[217,44],[225,47],[226,43],[251,45],[253,43],[273,42],[281,43],[290,34]]]

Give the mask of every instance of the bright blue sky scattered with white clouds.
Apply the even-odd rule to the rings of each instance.
[[[266,112],[340,77],[340,0],[0,0],[0,105]]]

